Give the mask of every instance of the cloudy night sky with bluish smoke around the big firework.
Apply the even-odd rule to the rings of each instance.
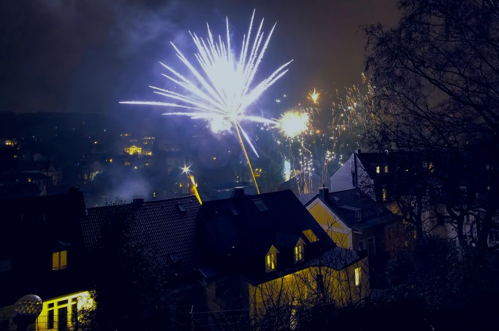
[[[165,85],[159,61],[186,72],[170,40],[190,56],[188,31],[204,36],[209,22],[224,32],[226,15],[233,40],[241,40],[253,8],[255,19],[265,17],[265,31],[277,21],[260,72],[294,59],[262,98],[285,93],[297,103],[313,87],[359,83],[365,45],[359,25],[392,25],[399,17],[394,0],[4,0],[1,6],[0,111],[11,112],[106,113],[124,107],[118,101],[153,100],[148,85]]]

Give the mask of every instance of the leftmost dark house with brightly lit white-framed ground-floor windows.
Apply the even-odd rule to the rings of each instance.
[[[2,199],[0,209],[0,330],[13,330],[12,305],[28,294],[43,300],[30,330],[74,326],[78,310],[92,306],[80,231],[83,194],[71,188],[64,194]]]

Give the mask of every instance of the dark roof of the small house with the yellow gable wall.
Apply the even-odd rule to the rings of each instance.
[[[331,192],[326,201],[321,200],[351,229],[367,230],[400,219],[360,188]],[[356,211],[361,212],[360,221],[356,219]]]

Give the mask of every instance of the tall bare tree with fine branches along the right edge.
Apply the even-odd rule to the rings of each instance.
[[[499,201],[497,3],[400,0],[399,8],[395,28],[365,28],[376,86],[366,140],[424,155],[435,171],[420,183],[436,188],[437,216],[464,239],[471,215],[469,234],[486,247]]]

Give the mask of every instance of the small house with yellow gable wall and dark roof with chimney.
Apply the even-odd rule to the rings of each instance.
[[[367,252],[372,280],[381,276],[387,255],[408,243],[401,217],[360,188],[329,192],[320,187],[305,206],[337,246]]]

